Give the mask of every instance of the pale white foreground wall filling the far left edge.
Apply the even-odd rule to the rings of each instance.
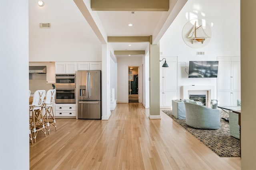
[[[0,0],[0,25],[0,169],[28,170],[28,0]]]

